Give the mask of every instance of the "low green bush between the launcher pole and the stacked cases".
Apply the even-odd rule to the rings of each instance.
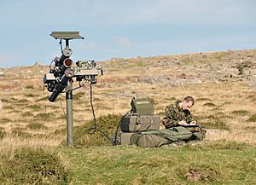
[[[113,136],[117,125],[119,124],[120,115],[108,114],[106,116],[100,116],[96,119],[97,129],[93,135],[89,132],[91,127],[94,127],[94,122],[89,122],[74,128],[74,140],[77,147],[91,147],[91,146],[110,146],[111,142],[102,135],[99,130],[102,130],[108,137]]]

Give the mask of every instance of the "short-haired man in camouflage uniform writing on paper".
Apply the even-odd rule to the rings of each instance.
[[[163,124],[166,128],[173,126],[196,124],[195,119],[192,118],[189,108],[193,107],[195,101],[192,96],[187,96],[183,101],[176,101],[175,103],[166,107],[166,117],[163,119]]]

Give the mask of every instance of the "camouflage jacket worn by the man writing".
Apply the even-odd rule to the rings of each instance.
[[[186,121],[187,124],[194,120],[189,110],[183,110],[182,107],[180,107],[180,102],[181,101],[176,101],[175,103],[166,107],[166,116],[163,119],[163,124],[166,126],[166,128],[177,126],[178,122],[183,120]]]

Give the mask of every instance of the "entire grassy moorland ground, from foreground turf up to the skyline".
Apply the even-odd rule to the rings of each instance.
[[[47,66],[1,69],[0,179],[3,184],[253,184],[256,166],[256,50],[112,59],[94,86],[97,123],[112,136],[131,97],[169,103],[195,97],[207,127],[191,146],[112,147],[91,136],[89,86],[74,92],[75,142],[66,147],[65,98],[47,101]]]

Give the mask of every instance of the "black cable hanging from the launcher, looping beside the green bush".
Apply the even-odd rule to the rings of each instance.
[[[91,112],[92,112],[92,115],[93,115],[93,126],[90,127],[90,129],[87,131],[88,134],[90,135],[93,135],[96,133],[96,131],[99,131],[102,133],[103,136],[105,136],[109,142],[111,142],[113,145],[114,142],[112,141],[112,139],[106,134],[104,133],[102,130],[98,129],[97,128],[97,124],[96,124],[96,115],[95,115],[95,110],[94,110],[94,107],[93,107],[93,103],[92,103],[92,100],[93,99],[93,96],[92,96],[92,84],[90,83],[90,107],[91,107]],[[92,130],[92,131],[90,131]]]

